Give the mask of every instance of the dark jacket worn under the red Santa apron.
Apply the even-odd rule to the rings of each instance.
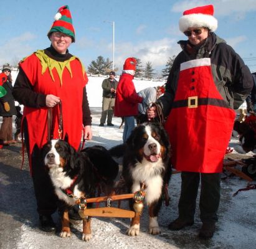
[[[230,108],[237,109],[252,89],[252,76],[249,68],[240,56],[214,33],[210,33],[206,42],[192,46],[188,40],[178,42],[183,49],[176,57],[166,83],[166,92],[157,101],[168,116],[177,90],[180,65],[194,59],[210,58],[212,76],[217,90]]]

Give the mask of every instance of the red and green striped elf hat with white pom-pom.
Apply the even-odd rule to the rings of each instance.
[[[59,8],[54,17],[55,21],[50,27],[47,36],[50,38],[52,32],[62,32],[63,34],[70,35],[72,42],[75,42],[75,29],[72,24],[72,17],[69,11],[69,6],[65,5]]]

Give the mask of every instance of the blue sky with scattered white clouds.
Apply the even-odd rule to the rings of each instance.
[[[178,27],[183,11],[213,4],[216,34],[256,71],[256,0],[9,0],[1,4],[0,64],[12,64],[49,47],[46,34],[55,13],[65,4],[76,32],[69,50],[85,67],[98,55],[113,60],[115,21],[115,67],[122,69],[126,57],[138,57],[161,70],[169,57],[180,52],[178,40],[186,39]]]

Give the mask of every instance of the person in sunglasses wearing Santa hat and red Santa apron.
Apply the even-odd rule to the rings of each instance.
[[[156,105],[167,117],[165,128],[173,147],[173,167],[181,172],[179,217],[169,229],[194,224],[196,198],[202,227],[199,237],[211,238],[220,201],[220,172],[225,149],[232,133],[233,109],[245,100],[252,88],[249,68],[214,31],[217,19],[212,5],[184,11],[179,29],[181,40],[166,83],[166,92]],[[157,116],[156,106],[147,111]]]

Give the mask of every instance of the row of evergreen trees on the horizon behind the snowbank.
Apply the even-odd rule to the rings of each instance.
[[[161,76],[167,77],[171,68],[173,67],[173,62],[175,59],[175,55],[173,57],[169,57],[166,62],[165,67],[161,70]],[[145,67],[140,60],[140,58],[136,58],[137,65],[135,71],[136,78],[153,78],[156,74],[151,62],[146,62]],[[113,69],[113,62],[110,59],[105,59],[102,55],[98,56],[96,60],[92,60],[90,65],[88,65],[88,73],[92,73],[94,75],[108,75]],[[118,71],[118,68],[115,68],[115,71]]]

